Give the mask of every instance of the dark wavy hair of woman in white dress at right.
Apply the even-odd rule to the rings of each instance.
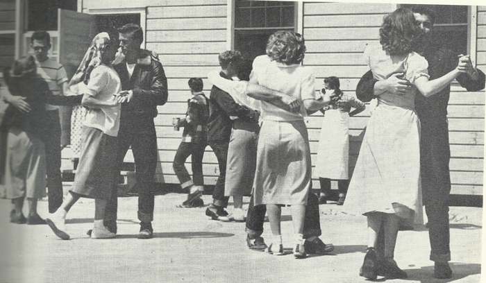
[[[414,40],[420,34],[412,10],[399,8],[383,18],[380,44],[390,55],[404,55],[412,52]]]

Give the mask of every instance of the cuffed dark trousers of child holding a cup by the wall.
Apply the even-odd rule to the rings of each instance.
[[[203,186],[203,155],[206,148],[206,141],[203,142],[181,142],[177,148],[176,156],[174,157],[174,163],[172,167],[176,172],[177,178],[183,188],[189,187],[191,177],[185,169],[185,160],[191,155],[191,167],[192,167],[192,179],[194,185]],[[188,185],[184,185],[188,184]]]

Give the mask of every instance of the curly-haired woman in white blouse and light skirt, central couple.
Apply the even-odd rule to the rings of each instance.
[[[261,101],[260,137],[253,182],[254,205],[267,205],[273,241],[268,252],[283,255],[280,233],[281,208],[291,205],[296,234],[294,257],[305,257],[303,219],[310,189],[311,164],[307,128],[303,117],[329,103],[330,98],[315,92],[312,69],[303,67],[303,37],[290,31],[277,31],[269,37],[267,55],[253,61],[250,83],[277,90],[300,104],[297,112],[285,111]]]

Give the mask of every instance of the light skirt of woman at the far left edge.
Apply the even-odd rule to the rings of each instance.
[[[44,142],[17,127],[8,131],[5,187],[6,198],[46,196]]]

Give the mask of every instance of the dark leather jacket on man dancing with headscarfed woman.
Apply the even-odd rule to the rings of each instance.
[[[121,115],[135,117],[156,117],[157,105],[167,102],[167,78],[156,53],[140,50],[139,58],[130,79],[126,60],[113,65],[121,80],[122,90],[133,89],[130,102],[121,105]]]

